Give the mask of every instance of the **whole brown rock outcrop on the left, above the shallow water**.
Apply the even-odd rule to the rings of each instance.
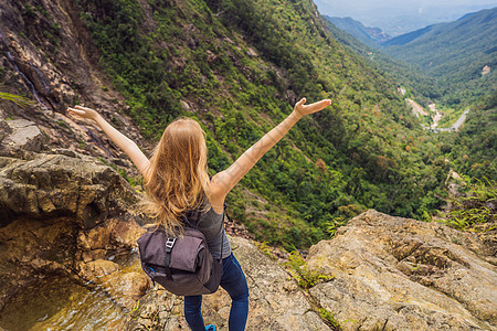
[[[52,152],[0,157],[0,311],[28,284],[54,275],[133,307],[148,279],[119,255],[144,232],[128,212],[139,195],[98,159]]]

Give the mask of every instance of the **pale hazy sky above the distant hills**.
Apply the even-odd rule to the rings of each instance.
[[[314,0],[321,14],[351,17],[367,26],[391,34],[405,33],[437,22],[454,21],[482,9],[497,7],[497,0]]]

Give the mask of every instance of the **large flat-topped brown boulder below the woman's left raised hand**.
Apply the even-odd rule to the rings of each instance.
[[[129,184],[95,158],[39,154],[32,160],[1,158],[0,216],[74,215],[81,228],[92,228],[107,215],[138,201]],[[11,163],[9,163],[11,162]]]

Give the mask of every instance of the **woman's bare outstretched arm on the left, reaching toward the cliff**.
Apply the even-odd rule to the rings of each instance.
[[[67,108],[67,113],[76,118],[89,118],[95,120],[104,132],[131,159],[136,168],[138,168],[138,170],[146,175],[146,170],[150,161],[138,148],[135,141],[116,130],[92,108],[76,106],[74,108]]]

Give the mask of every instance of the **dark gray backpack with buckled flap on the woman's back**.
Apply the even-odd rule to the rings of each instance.
[[[209,252],[204,235],[197,228],[200,211],[183,215],[181,236],[163,228],[149,229],[138,238],[141,268],[165,289],[179,296],[210,295],[218,290],[223,274],[222,259]],[[221,257],[223,243],[221,241]]]

